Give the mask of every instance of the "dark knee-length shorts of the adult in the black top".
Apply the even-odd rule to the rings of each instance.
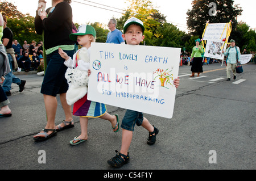
[[[64,50],[69,57],[73,57],[73,50]],[[56,96],[68,91],[68,82],[65,79],[67,66],[64,65],[65,59],[62,58],[58,50],[47,54],[47,69],[41,87],[41,93]]]

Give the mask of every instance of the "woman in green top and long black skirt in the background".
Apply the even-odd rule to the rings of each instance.
[[[195,72],[197,72],[197,77],[199,77],[200,73],[203,72],[203,57],[202,54],[204,53],[204,48],[200,45],[200,39],[196,39],[196,46],[193,47],[191,59],[193,58],[193,63],[191,66],[192,75],[190,77],[195,77]]]

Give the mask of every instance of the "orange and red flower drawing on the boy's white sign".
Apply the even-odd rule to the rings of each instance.
[[[171,86],[173,86],[171,84],[171,80],[174,79],[173,74],[171,74],[171,71],[172,70],[169,70],[169,69],[166,69],[166,70],[163,70],[163,69],[157,69],[156,71],[153,72],[153,74],[155,75],[155,78],[159,78],[160,79],[160,82],[161,82],[161,86],[164,87],[164,84],[167,85],[167,83],[169,83]],[[167,88],[167,87],[166,87]],[[167,88],[168,89],[168,88]]]

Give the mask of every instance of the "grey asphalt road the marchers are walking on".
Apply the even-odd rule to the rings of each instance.
[[[13,116],[0,118],[0,169],[101,170],[100,178],[109,171],[120,170],[256,169],[256,65],[243,65],[243,73],[231,81],[226,81],[225,66],[220,63],[204,65],[200,78],[189,77],[190,68],[180,66],[172,119],[144,115],[159,128],[156,144],[147,145],[148,132],[135,127],[130,163],[120,169],[109,166],[107,160],[121,148],[122,130],[113,133],[105,120],[89,119],[89,139],[77,146],[69,145],[69,141],[80,134],[78,117],[74,117],[74,128],[58,132],[47,141],[35,142],[32,136],[46,125],[40,94],[43,77],[17,75],[27,83],[23,92],[12,85],[9,106]],[[64,112],[57,99],[59,124]],[[121,119],[126,111],[107,108]],[[41,159],[43,155],[45,159]],[[42,160],[46,163],[40,163]]]

